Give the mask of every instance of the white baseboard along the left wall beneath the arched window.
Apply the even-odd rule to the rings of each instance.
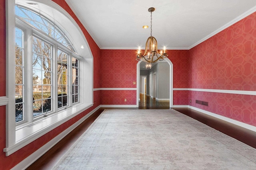
[[[68,129],[64,130],[62,133],[60,133],[59,135],[54,137],[52,140],[50,140],[48,143],[46,143],[44,146],[40,147],[40,149],[36,150],[30,156],[22,160],[20,163],[14,166],[11,170],[24,170],[28,168],[28,166],[30,166],[33,162],[35,162],[38,158],[40,158],[43,154],[45,154],[49,149],[51,149],[54,145],[56,145],[61,139],[63,139],[66,135],[68,135],[68,133],[74,130],[78,125],[80,125],[84,120],[86,120],[90,115],[92,115],[99,108],[100,106],[90,111],[87,115],[85,115],[76,123],[68,127]]]

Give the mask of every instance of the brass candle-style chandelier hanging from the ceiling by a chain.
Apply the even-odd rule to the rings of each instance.
[[[157,49],[157,41],[156,38],[152,36],[152,12],[154,12],[155,8],[149,8],[148,12],[151,13],[151,31],[150,31],[150,37],[148,37],[146,41],[145,51],[144,54],[140,52],[140,47],[138,48],[137,53],[137,61],[144,61],[146,62],[146,68],[151,68],[151,63],[156,63],[158,60],[163,61],[164,58],[168,57],[168,54],[165,53],[166,47],[164,47],[163,50],[160,52]]]

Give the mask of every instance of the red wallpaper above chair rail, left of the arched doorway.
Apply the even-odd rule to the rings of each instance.
[[[101,50],[101,88],[136,88],[136,50]]]

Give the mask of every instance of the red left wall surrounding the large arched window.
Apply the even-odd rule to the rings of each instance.
[[[92,39],[92,37],[89,35],[89,33],[86,31],[86,29],[83,27],[82,23],[78,20],[78,18],[74,15],[72,10],[69,8],[69,6],[66,4],[64,0],[53,0],[57,4],[59,4],[62,8],[64,8],[78,23],[80,28],[82,29],[88,44],[90,46],[90,49],[92,51],[92,55],[94,57],[94,88],[100,87],[100,49]],[[6,37],[5,37],[5,0],[0,0],[0,96],[6,96],[5,88],[6,88]],[[10,156],[5,156],[5,152],[0,152],[0,169],[10,169],[14,167],[16,164],[18,164],[20,161],[24,160],[27,156],[35,152],[37,149],[42,147],[44,144],[46,144],[48,141],[56,137],[58,134],[60,134],[62,131],[70,127],[72,124],[76,123],[79,119],[84,117],[87,113],[92,111],[94,108],[100,105],[100,93],[99,91],[94,92],[94,101],[95,104],[93,107],[90,107],[90,109],[87,109],[83,113],[80,113],[76,117],[70,119],[66,123],[60,125],[56,129],[50,131],[46,135],[40,137],[39,139],[33,141],[29,145],[26,145],[22,149],[14,152]],[[5,106],[0,106],[0,150],[3,150],[6,146],[6,135],[5,135]]]

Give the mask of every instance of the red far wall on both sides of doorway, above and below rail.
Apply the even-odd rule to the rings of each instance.
[[[188,88],[188,50],[166,53],[174,65],[174,88]],[[136,82],[138,61],[135,59],[136,50],[101,50],[101,88],[136,88],[133,82]],[[101,90],[104,105],[136,105],[136,100],[136,90]],[[187,104],[188,91],[174,91],[174,105]]]

